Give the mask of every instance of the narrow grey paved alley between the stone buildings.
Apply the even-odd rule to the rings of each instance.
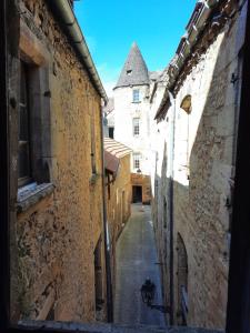
[[[149,205],[133,204],[117,244],[114,322],[164,326],[164,316],[142,303],[140,287],[147,278],[156,284],[154,304],[162,304],[160,270]]]

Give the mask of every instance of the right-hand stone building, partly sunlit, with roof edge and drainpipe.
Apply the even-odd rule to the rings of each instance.
[[[151,95],[153,221],[176,324],[226,323],[246,7],[199,1]]]

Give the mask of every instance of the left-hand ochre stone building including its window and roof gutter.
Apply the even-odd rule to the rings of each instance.
[[[11,315],[107,317],[101,99],[68,0],[11,14]]]

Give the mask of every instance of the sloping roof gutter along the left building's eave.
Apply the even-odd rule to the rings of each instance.
[[[74,50],[79,54],[81,62],[83,62],[90,79],[100,94],[100,97],[104,100],[104,103],[108,103],[108,95],[102,85],[101,79],[98,74],[91,54],[89,52],[87,42],[82,34],[82,31],[79,27],[77,18],[73,13],[73,10],[68,0],[47,0],[48,4],[51,7],[52,12],[57,16],[58,20],[63,24],[63,29],[72,43]]]

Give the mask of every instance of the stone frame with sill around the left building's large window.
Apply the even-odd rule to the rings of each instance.
[[[30,165],[31,179],[21,184],[17,193],[17,212],[23,212],[42,198],[53,192],[51,182],[51,124],[50,124],[50,57],[46,47],[20,21],[20,64],[24,62],[28,68],[29,81],[29,128],[30,128]],[[18,122],[17,122],[18,124]],[[17,129],[18,131],[18,129]]]

